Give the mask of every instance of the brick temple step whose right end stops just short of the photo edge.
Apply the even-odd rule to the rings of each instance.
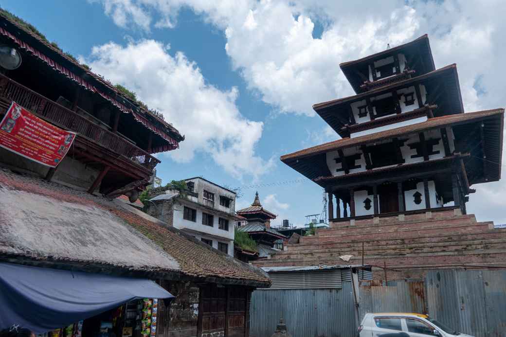
[[[408,239],[415,237],[428,237],[428,236],[441,236],[441,235],[458,235],[458,234],[471,234],[471,233],[484,233],[490,230],[490,224],[492,223],[476,223],[474,225],[461,225],[453,227],[436,227],[429,229],[409,229],[398,232],[376,232],[369,234],[354,233],[351,235],[341,236],[303,236],[300,239],[301,244],[307,243],[323,243],[323,242],[362,242],[368,240],[384,240],[384,239]]]

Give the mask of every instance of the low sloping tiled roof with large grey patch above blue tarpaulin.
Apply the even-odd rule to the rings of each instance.
[[[111,268],[168,279],[270,284],[265,272],[258,268],[119,200],[3,168],[0,193],[10,204],[0,213],[0,260]]]

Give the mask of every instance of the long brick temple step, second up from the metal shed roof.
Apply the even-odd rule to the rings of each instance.
[[[365,256],[385,256],[385,255],[404,255],[404,254],[425,254],[425,253],[439,253],[439,252],[460,252],[460,251],[473,251],[484,249],[503,249],[506,252],[506,240],[501,242],[488,242],[488,243],[475,243],[475,244],[440,244],[440,245],[425,245],[419,247],[398,247],[398,248],[369,248],[365,249]],[[361,249],[342,249],[342,250],[308,250],[307,252],[300,252],[299,254],[277,254],[273,256],[272,260],[287,259],[319,259],[326,257],[339,257],[342,255],[353,255],[355,257],[362,256]]]

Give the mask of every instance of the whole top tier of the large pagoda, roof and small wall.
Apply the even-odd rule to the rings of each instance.
[[[436,69],[427,34],[340,67],[357,94]]]

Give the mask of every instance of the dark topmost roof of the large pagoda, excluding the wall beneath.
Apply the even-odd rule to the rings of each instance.
[[[372,54],[358,60],[341,63],[340,67],[350,82],[351,86],[353,87],[353,90],[355,90],[355,92],[358,94],[363,91],[360,86],[364,81],[357,70],[367,67],[371,62],[374,62],[381,58],[390,57],[396,53],[404,53],[409,58],[419,58],[420,62],[418,64],[418,73],[416,76],[428,73],[436,69],[434,65],[434,58],[432,57],[431,46],[429,44],[429,37],[427,34],[422,35],[406,44],[389,48],[382,52]]]

